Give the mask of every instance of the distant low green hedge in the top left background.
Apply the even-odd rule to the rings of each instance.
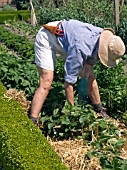
[[[1,11],[0,24],[4,24],[7,20],[27,20],[30,18],[30,11]]]

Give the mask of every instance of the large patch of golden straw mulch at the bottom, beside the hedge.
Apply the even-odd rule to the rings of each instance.
[[[84,145],[83,140],[52,141],[48,138],[50,145],[58,153],[62,162],[70,170],[101,170],[99,159],[85,158],[85,154],[90,150],[90,146]]]

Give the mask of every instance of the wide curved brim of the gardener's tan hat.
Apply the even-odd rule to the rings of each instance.
[[[114,35],[114,30],[111,28],[104,28],[101,32],[100,39],[99,39],[99,49],[98,49],[98,56],[100,61],[106,67],[115,67],[119,60],[112,60],[110,57],[110,53],[108,50],[108,42],[112,35]]]

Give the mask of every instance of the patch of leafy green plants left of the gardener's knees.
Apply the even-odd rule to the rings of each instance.
[[[14,55],[0,54],[0,80],[7,88],[24,90],[32,96],[38,86],[36,66]]]

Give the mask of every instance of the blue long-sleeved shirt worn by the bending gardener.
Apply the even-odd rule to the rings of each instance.
[[[67,54],[64,79],[74,84],[84,61],[92,65],[99,61],[98,43],[103,29],[72,19],[62,20],[59,28],[64,36],[58,36],[58,42]]]

